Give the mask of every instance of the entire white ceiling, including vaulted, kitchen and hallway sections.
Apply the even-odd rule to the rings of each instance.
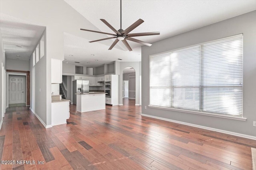
[[[113,33],[100,19],[105,19],[114,28],[120,29],[119,0],[65,0],[65,2],[100,31]],[[256,0],[122,0],[122,29],[126,29],[140,18],[144,23],[131,33],[160,31],[160,35],[136,37],[136,39],[153,43],[253,10],[256,10]],[[0,16],[0,21],[7,57],[16,58],[16,55],[21,55],[21,59],[28,59],[45,27],[32,25],[33,23],[3,14]],[[82,28],[89,29],[86,25]],[[104,34],[89,33],[100,35],[101,38],[108,37]],[[108,50],[114,39],[88,42],[92,40],[95,39],[84,39],[64,33],[64,58],[66,59],[64,62],[78,61],[86,66],[100,66],[104,63],[119,61],[118,59],[141,61],[139,43],[128,41],[133,51],[128,51],[120,41],[112,50]],[[23,48],[16,45],[22,45]]]

